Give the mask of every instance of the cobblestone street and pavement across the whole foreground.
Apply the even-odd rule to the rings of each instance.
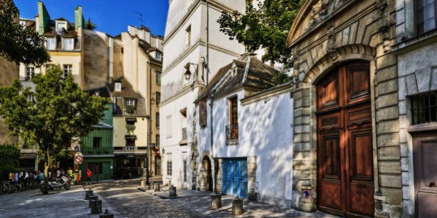
[[[139,180],[123,180],[84,186],[71,190],[28,190],[0,195],[0,217],[99,217],[91,214],[85,190],[93,190],[102,200],[102,212],[108,209],[114,217],[335,217],[323,212],[300,212],[290,208],[243,201],[243,214],[232,216],[233,196],[224,195],[221,208],[211,208],[209,192],[177,189],[169,197],[169,187],[160,192],[139,188]]]

